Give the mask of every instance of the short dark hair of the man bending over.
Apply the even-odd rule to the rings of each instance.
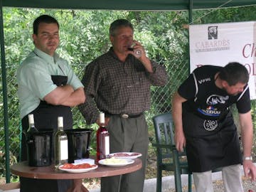
[[[228,85],[236,85],[238,82],[247,83],[249,81],[249,73],[244,65],[240,63],[228,63],[220,70],[219,77],[221,80],[228,82]]]

